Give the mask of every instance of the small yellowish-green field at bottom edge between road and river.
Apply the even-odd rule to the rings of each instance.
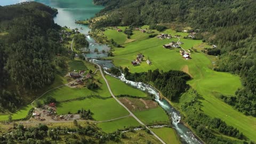
[[[158,137],[160,137],[165,143],[180,144],[179,137],[174,129],[164,127],[161,129],[151,129]]]

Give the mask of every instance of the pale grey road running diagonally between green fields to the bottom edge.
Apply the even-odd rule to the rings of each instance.
[[[94,63],[94,62],[92,62],[92,63]],[[98,65],[98,63],[94,63],[94,64],[99,67],[100,73],[101,73],[103,79],[105,80],[105,82],[106,82],[106,84],[107,84],[108,91],[110,92],[111,96],[112,96],[121,106],[123,106],[127,111],[129,111],[130,115],[131,115],[132,117],[134,117],[141,125],[145,126],[146,129],[148,129],[151,134],[153,134],[159,141],[161,141],[162,143],[165,144],[165,142],[164,142],[161,138],[159,138],[153,131],[151,131],[151,130],[148,128],[148,126],[146,126],[145,124],[143,124],[143,123],[140,121],[140,119],[139,119],[138,117],[136,117],[136,116],[132,113],[132,111],[130,111],[127,107],[125,107],[124,104],[123,104],[121,101],[119,101],[119,100],[115,97],[115,95],[113,94],[113,92],[112,92],[111,89],[110,89],[110,86],[109,86],[109,84],[108,84],[108,81],[107,81],[106,77],[104,76],[103,71],[102,71],[100,65]]]

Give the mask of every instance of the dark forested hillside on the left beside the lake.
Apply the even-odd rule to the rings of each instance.
[[[23,94],[53,82],[52,59],[64,52],[56,12],[35,2],[0,7],[0,113],[15,111]]]

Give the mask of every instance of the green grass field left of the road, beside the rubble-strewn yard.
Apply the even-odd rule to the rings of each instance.
[[[105,121],[129,115],[128,111],[113,98],[105,100],[88,98],[79,101],[61,102],[57,105],[57,114],[68,114],[68,112],[75,114],[81,108],[90,109],[93,113],[92,117],[97,121]]]

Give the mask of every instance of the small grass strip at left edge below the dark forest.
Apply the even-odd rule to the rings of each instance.
[[[16,113],[11,114],[12,119],[21,119],[25,118],[28,115],[28,111],[32,108],[31,105],[25,106],[20,108]],[[0,121],[7,121],[9,118],[9,115],[0,115]]]

